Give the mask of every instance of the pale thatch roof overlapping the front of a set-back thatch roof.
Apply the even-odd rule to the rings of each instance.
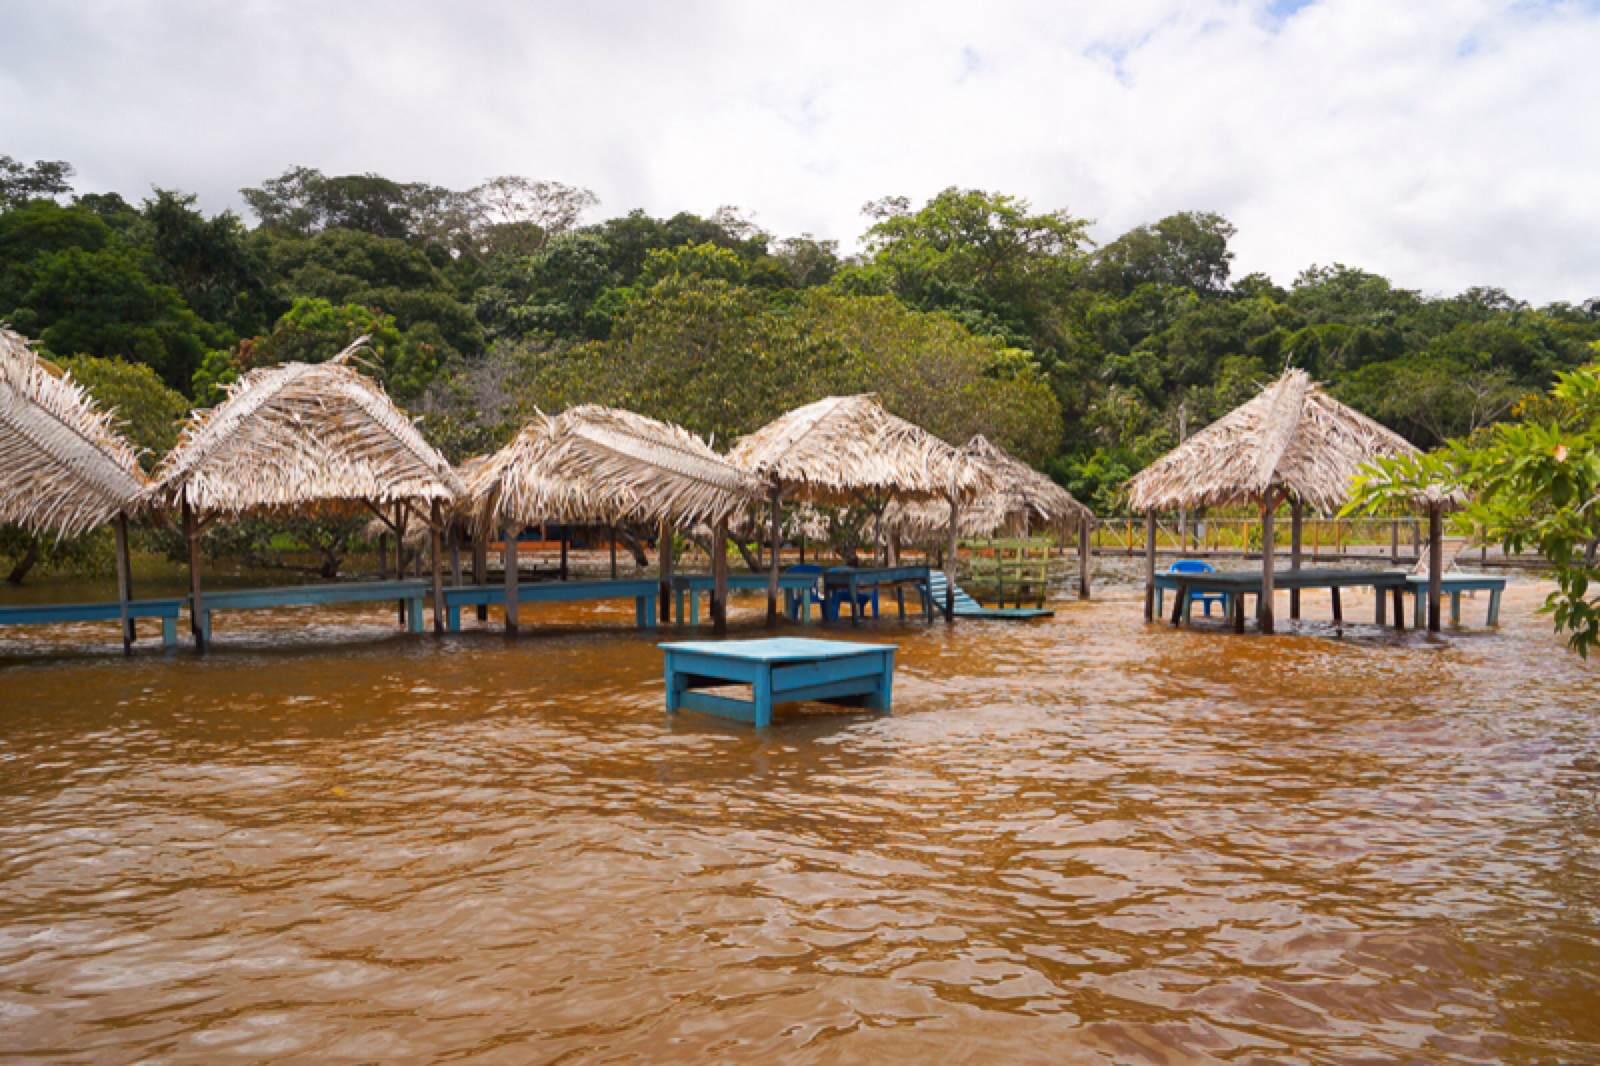
[[[986,488],[979,469],[870,394],[830,395],[739,439],[728,461],[789,498],[848,504],[861,496],[946,498]]]

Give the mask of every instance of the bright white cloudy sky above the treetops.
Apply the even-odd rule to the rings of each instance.
[[[291,163],[739,205],[1024,195],[1110,238],[1238,226],[1235,274],[1600,296],[1600,3],[0,0],[0,154],[242,206]]]

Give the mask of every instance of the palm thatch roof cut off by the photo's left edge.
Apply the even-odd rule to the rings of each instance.
[[[0,523],[75,536],[138,507],[147,490],[114,415],[0,330]]]

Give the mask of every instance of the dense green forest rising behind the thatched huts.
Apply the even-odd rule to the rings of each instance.
[[[1600,299],[1432,296],[1344,264],[1286,288],[1234,277],[1234,227],[1205,211],[1096,245],[1066,210],[952,187],[866,205],[842,256],[734,208],[594,221],[589,190],[515,176],[454,190],[296,166],[242,190],[253,224],[72,176],[0,157],[0,322],[117,403],[152,463],[243,371],[371,333],[373,371],[456,459],[534,407],[619,403],[725,443],[875,391],[1114,512],[1130,474],[1285,363],[1426,448],[1600,341]]]

